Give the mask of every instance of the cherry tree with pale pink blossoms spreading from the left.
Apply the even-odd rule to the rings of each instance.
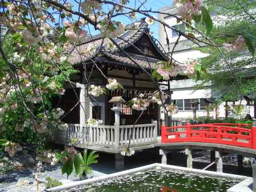
[[[50,101],[53,96],[64,94],[64,82],[68,82],[71,87],[75,85],[70,76],[76,73],[76,70],[69,62],[67,50],[70,46],[76,49],[86,36],[91,35],[90,31],[92,30],[98,31],[101,35],[101,44],[108,41],[109,49],[120,49],[128,59],[139,66],[114,41],[115,37],[127,30],[126,24],[122,22],[122,16],[127,16],[131,23],[135,23],[135,27],[141,17],[146,18],[145,22],[148,26],[158,22],[164,28],[177,31],[179,37],[184,36],[195,44],[204,43],[210,48],[216,48],[224,58],[224,51],[240,51],[245,46],[254,53],[251,49],[252,40],[245,35],[237,35],[237,40],[233,44],[218,44],[210,38],[213,22],[207,2],[176,0],[174,4],[177,6],[178,15],[162,13],[166,16],[174,16],[179,22],[184,23],[189,32],[179,31],[163,20],[155,18],[153,15],[161,12],[147,10],[144,6],[147,1],[134,0],[134,2],[128,0],[1,1],[1,132],[5,132],[6,127],[9,126],[12,114],[16,116],[15,125],[13,125],[15,131],[22,131],[23,127],[30,126],[36,134],[41,134],[51,128],[67,127],[67,124],[61,121],[61,117],[65,114],[60,109],[52,108]],[[195,27],[195,23],[200,24],[201,28]],[[201,37],[198,38],[196,35]],[[167,42],[169,42],[168,37]],[[170,46],[169,43],[168,46]],[[197,60],[185,63],[175,61],[172,58],[175,46],[170,53],[166,53],[168,61],[159,62],[152,74],[147,73],[156,86],[158,86],[158,81],[170,80],[177,74],[183,74],[189,78],[205,74]],[[101,48],[96,50],[96,47],[91,44],[86,52],[90,55],[100,55]],[[86,57],[85,53],[79,52],[79,55]],[[96,63],[94,65],[98,68]],[[103,73],[102,76],[104,76]],[[85,78],[88,80],[89,77],[86,77],[85,74]],[[122,88],[122,85],[116,80],[105,78],[108,82],[106,87],[88,85],[86,89],[90,97],[98,97],[106,94],[107,90]],[[165,108],[167,113],[174,114],[177,112],[177,107],[164,103],[167,97],[168,94],[163,93],[158,86],[158,91],[148,101],[143,98],[143,95],[140,95],[129,103],[142,113],[150,105],[150,102],[158,103]],[[78,96],[77,100],[79,101]],[[80,104],[80,102],[77,103],[77,105]],[[88,119],[87,122],[89,124],[100,123],[99,120],[92,119]],[[11,147],[11,145],[7,147]]]

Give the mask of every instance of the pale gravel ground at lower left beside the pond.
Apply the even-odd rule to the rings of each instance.
[[[61,165],[43,165],[42,173],[40,174],[39,179],[45,180],[47,177],[51,177],[61,181],[62,183],[79,181],[79,179],[73,173],[68,177],[67,180],[67,175],[61,174],[60,166]],[[35,173],[35,168],[13,170],[7,176],[0,175],[0,191],[34,192],[35,183],[33,173]],[[103,175],[105,174],[93,170],[89,177],[99,177]],[[43,191],[44,189],[45,185],[40,183],[39,191]]]

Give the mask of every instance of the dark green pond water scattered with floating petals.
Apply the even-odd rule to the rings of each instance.
[[[184,170],[156,167],[63,191],[211,192],[226,191],[241,181],[241,179],[236,178],[217,178],[205,174],[185,172]]]

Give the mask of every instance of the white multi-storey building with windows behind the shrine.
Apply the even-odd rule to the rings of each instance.
[[[177,14],[177,9],[175,6],[167,6],[163,7],[159,10],[160,12],[167,12],[169,14],[175,15]],[[177,19],[173,16],[167,16],[163,14],[158,15],[159,19],[162,19],[166,22],[169,26],[175,27],[179,30],[184,28],[183,24],[177,23]],[[166,27],[166,31],[164,31],[164,27],[162,24],[159,24],[159,41],[162,44],[163,48],[166,52],[168,52],[168,45],[166,40],[166,34],[168,35],[168,39],[170,42],[169,51],[172,51],[174,44],[179,36],[175,30],[171,30],[170,28]],[[203,44],[201,44],[203,45]],[[193,44],[190,40],[186,39],[185,37],[181,36],[179,43],[175,47],[175,51],[173,54],[173,58],[176,61],[184,62],[189,59],[198,59],[201,57],[207,56],[207,54],[197,51],[195,49],[195,44]],[[191,104],[189,104],[190,99],[199,99],[199,107],[197,110],[197,117],[205,117],[207,116],[207,111],[205,108],[205,99],[214,99],[216,98],[217,93],[213,93],[210,85],[205,86],[204,89],[196,89],[196,82],[188,79],[188,80],[177,80],[172,81],[170,83],[170,89],[173,91],[172,100],[176,102],[176,105],[179,107],[179,112],[177,114],[172,115],[172,118],[186,118],[191,119],[193,118],[193,111],[191,109]],[[218,109],[218,117],[224,118],[225,117],[225,104],[222,103]],[[228,105],[232,105],[233,102],[228,102]],[[236,103],[238,104],[238,103]],[[246,101],[242,101],[243,105],[246,105]],[[248,110],[250,111],[250,115],[255,117],[254,115],[254,107],[247,106]],[[210,111],[210,117],[215,117],[216,111]],[[164,110],[161,110],[161,118],[164,119]]]

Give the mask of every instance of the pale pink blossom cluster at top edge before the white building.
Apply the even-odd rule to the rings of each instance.
[[[181,18],[191,21],[194,15],[199,15],[200,10],[203,7],[202,0],[174,0],[174,5],[177,6],[177,14]]]

